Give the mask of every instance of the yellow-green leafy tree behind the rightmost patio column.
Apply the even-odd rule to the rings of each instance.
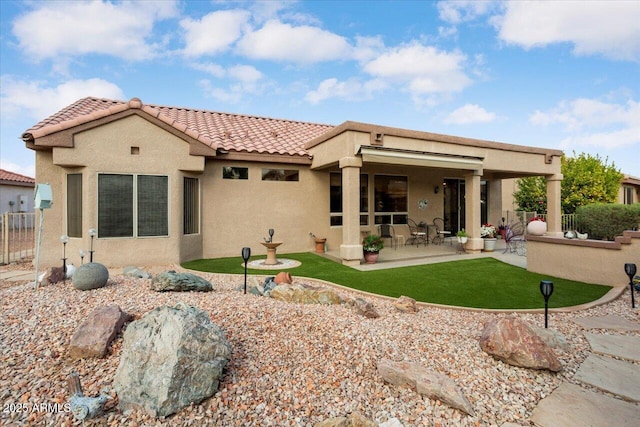
[[[580,206],[592,203],[614,203],[620,188],[622,173],[615,165],[600,156],[580,153],[574,157],[562,156],[561,184],[562,211],[575,213]],[[544,177],[534,176],[517,181],[513,193],[519,208],[528,212],[547,212],[547,185]]]

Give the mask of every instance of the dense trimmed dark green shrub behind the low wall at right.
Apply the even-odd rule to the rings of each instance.
[[[624,230],[637,230],[640,225],[640,203],[621,205],[594,203],[576,209],[576,222],[590,239],[614,240]]]

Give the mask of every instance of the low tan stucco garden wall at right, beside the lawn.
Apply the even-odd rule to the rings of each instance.
[[[527,241],[527,270],[585,283],[624,286],[629,283],[624,264],[640,264],[640,232],[623,234],[626,244],[532,237]]]

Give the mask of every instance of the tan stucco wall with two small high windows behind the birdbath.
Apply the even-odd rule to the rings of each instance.
[[[223,166],[248,167],[249,179],[223,179]],[[300,180],[262,181],[262,168],[297,169]],[[270,228],[274,241],[283,242],[278,253],[313,250],[311,232],[329,237],[328,173],[302,165],[210,161],[202,185],[205,258],[239,256],[245,246],[252,255],[265,255],[260,242]],[[329,237],[327,244],[336,241]]]

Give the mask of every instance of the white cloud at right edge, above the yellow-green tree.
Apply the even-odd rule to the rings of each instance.
[[[596,146],[618,148],[640,144],[640,103],[606,103],[579,98],[562,101],[548,112],[536,111],[529,122],[539,126],[560,125],[569,135],[564,148]]]

